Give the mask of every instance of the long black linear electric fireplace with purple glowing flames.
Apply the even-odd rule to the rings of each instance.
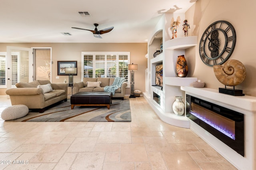
[[[186,95],[190,111],[186,117],[244,156],[244,115]]]

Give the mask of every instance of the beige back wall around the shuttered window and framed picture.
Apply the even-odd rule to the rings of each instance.
[[[130,63],[138,64],[135,73],[135,89],[145,91],[145,69],[147,67],[147,43],[0,43],[0,51],[6,51],[6,46],[16,47],[52,47],[52,83],[63,83],[68,76],[60,75],[56,79],[57,61],[77,61],[78,70],[81,70],[82,51],[130,51]],[[81,72],[74,76],[74,82],[81,81]],[[6,89],[0,89],[0,95],[5,94]],[[130,94],[130,88],[126,89]]]

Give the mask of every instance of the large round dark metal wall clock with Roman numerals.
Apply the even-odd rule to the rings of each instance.
[[[236,31],[227,21],[212,23],[202,35],[199,54],[209,66],[222,64],[228,60],[236,45]]]

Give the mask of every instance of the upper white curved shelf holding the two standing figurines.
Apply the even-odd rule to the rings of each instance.
[[[165,42],[165,49],[187,49],[197,45],[197,36],[180,37]]]

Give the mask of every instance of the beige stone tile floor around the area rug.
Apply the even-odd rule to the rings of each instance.
[[[190,129],[162,122],[143,97],[130,105],[130,123],[0,119],[0,169],[236,169]],[[0,96],[0,113],[8,106]]]

